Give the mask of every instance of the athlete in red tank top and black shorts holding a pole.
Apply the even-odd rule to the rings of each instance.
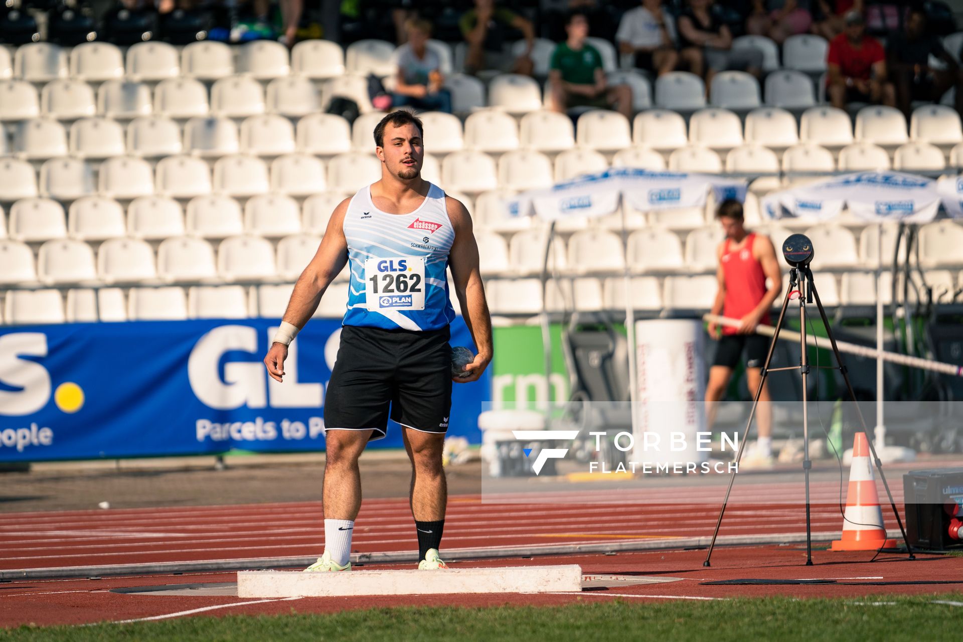
[[[745,352],[745,381],[749,392],[756,394],[762,380],[769,338],[756,334],[756,326],[771,325],[769,310],[782,289],[782,272],[776,250],[765,234],[745,229],[742,203],[724,200],[716,218],[725,231],[725,240],[716,247],[718,292],[712,313],[742,321],[740,327],[723,327],[716,348],[716,359],[709,369],[706,386],[706,420],[716,421],[717,402],[725,396],[729,379]],[[768,286],[767,286],[768,280]],[[709,323],[709,336],[716,339],[719,326]],[[756,411],[758,440],[743,451],[742,464],[747,467],[772,464],[772,410],[768,386],[763,386]]]

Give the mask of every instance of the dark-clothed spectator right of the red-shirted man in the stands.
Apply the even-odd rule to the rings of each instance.
[[[926,13],[920,7],[910,9],[905,29],[886,43],[887,62],[896,87],[897,105],[910,115],[914,100],[939,102],[943,94],[956,86],[957,109],[963,100],[960,69],[943,48],[943,42],[927,29]],[[942,61],[944,69],[929,66],[930,57]]]

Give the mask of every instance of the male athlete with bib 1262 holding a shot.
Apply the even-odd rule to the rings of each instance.
[[[441,453],[452,406],[447,267],[478,355],[459,383],[491,361],[491,321],[479,251],[465,206],[421,177],[422,123],[398,111],[375,128],[381,178],[343,200],[311,263],[295,284],[264,363],[284,375],[288,345],[345,264],[351,294],[341,346],[325,394],[325,553],[307,571],[351,569],[351,531],[361,505],[358,456],[402,424],[412,464],[411,512],[419,569],[448,568],[438,556],[448,489]]]

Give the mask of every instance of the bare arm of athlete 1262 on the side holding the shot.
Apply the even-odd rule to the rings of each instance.
[[[475,347],[479,350],[475,361],[465,366],[465,370],[470,374],[454,377],[452,380],[456,383],[468,383],[477,380],[491,361],[491,318],[488,316],[488,302],[481,284],[479,246],[475,243],[475,234],[472,232],[472,218],[458,199],[447,196],[446,204],[448,218],[455,228],[455,242],[449,252],[448,265],[452,269],[455,294],[461,304],[465,325],[472,333]]]

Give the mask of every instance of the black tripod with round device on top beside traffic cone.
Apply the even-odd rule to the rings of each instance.
[[[801,240],[796,239],[801,237]],[[804,240],[804,241],[803,241]],[[799,256],[803,252],[792,251],[793,243],[803,244],[805,249],[805,257],[800,260]],[[798,248],[796,248],[798,250]],[[739,444],[739,450],[736,453],[736,463],[738,464],[742,458],[742,449],[745,448],[745,440],[749,436],[749,426],[752,425],[752,419],[756,415],[756,408],[759,406],[759,397],[762,395],[763,386],[766,385],[766,377],[769,372],[777,372],[783,370],[798,370],[802,374],[802,448],[803,448],[803,460],[802,460],[802,470],[806,477],[806,566],[813,565],[813,542],[812,542],[812,526],[810,523],[810,510],[809,510],[809,471],[813,467],[812,461],[809,459],[809,416],[806,410],[806,384],[807,377],[809,375],[809,361],[806,346],[806,303],[813,302],[813,297],[816,297],[816,305],[820,309],[820,317],[822,318],[822,324],[826,328],[826,334],[829,337],[829,343],[833,347],[833,354],[836,356],[836,363],[838,366],[824,366],[830,370],[839,370],[843,374],[843,379],[846,381],[846,389],[849,392],[849,398],[854,402],[856,401],[856,394],[852,390],[852,385],[849,383],[849,375],[846,373],[846,366],[843,365],[843,359],[840,356],[839,348],[836,347],[836,339],[833,338],[833,333],[829,329],[829,321],[826,319],[826,312],[822,309],[822,302],[820,301],[820,294],[816,291],[816,285],[813,282],[813,270],[809,269],[809,262],[812,260],[812,244],[809,239],[803,237],[801,234],[793,235],[786,241],[785,255],[787,261],[790,265],[794,267],[790,270],[789,288],[786,290],[786,297],[783,300],[782,309],[779,311],[779,321],[776,321],[775,333],[772,335],[772,342],[769,344],[769,350],[766,355],[766,363],[763,364],[762,376],[759,381],[759,388],[756,389],[756,397],[752,402],[752,409],[749,411],[749,419],[745,424],[745,430],[742,432],[742,441]],[[797,294],[799,299],[799,325],[800,325],[800,339],[799,339],[799,351],[800,359],[798,366],[790,366],[787,368],[773,368],[769,369],[769,363],[772,361],[772,353],[775,351],[776,342],[779,340],[779,330],[782,328],[783,320],[786,318],[786,309],[789,307],[789,302],[792,295]],[[876,322],[882,322],[882,320],[877,320]],[[879,391],[877,394],[882,394]],[[866,422],[863,420],[863,413],[859,408],[858,403],[854,403],[856,406],[856,414],[859,416],[859,423],[862,426],[862,430],[866,433]],[[897,524],[899,525],[899,531],[902,533],[903,542],[906,543],[906,552],[909,553],[909,558],[914,559],[913,551],[910,549],[909,541],[906,539],[906,530],[903,528],[902,520],[899,519],[899,511],[897,510],[897,504],[893,501],[893,493],[890,492],[890,485],[886,482],[886,476],[883,475],[883,463],[880,461],[879,456],[876,454],[876,449],[872,445],[872,440],[867,436],[867,442],[870,444],[870,450],[872,452],[872,459],[876,465],[876,470],[879,471],[879,478],[883,482],[883,487],[886,488],[886,495],[889,497],[890,505],[893,507],[893,514],[897,518]],[[716,521],[716,530],[713,532],[713,541],[709,544],[709,552],[706,554],[706,561],[702,563],[703,566],[710,566],[709,560],[713,555],[713,549],[716,547],[716,537],[719,534],[719,526],[722,525],[722,515],[725,513],[726,504],[729,503],[729,495],[732,493],[732,485],[736,480],[737,473],[732,473],[729,475],[729,487],[725,492],[725,500],[722,501],[722,508],[719,510],[719,517]]]

